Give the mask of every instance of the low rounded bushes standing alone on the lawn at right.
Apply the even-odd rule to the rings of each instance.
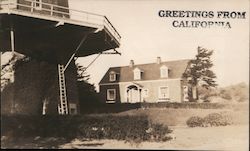
[[[186,121],[189,127],[226,126],[233,124],[232,117],[226,113],[211,113],[201,118],[199,116],[190,117]]]

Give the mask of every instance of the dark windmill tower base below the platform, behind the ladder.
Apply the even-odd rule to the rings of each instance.
[[[2,92],[1,114],[57,115],[59,98],[57,64],[28,60],[17,62],[15,81]],[[74,62],[65,72],[69,114],[79,113],[77,70]]]

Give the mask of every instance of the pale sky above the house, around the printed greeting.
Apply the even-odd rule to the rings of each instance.
[[[249,1],[248,0],[69,0],[70,8],[106,15],[118,30],[119,55],[101,55],[87,70],[96,86],[109,67],[193,59],[197,47],[214,50],[214,72],[219,86],[249,83]],[[174,20],[161,18],[159,10],[246,11],[246,19],[190,19],[229,21],[228,28],[174,28]],[[78,58],[87,66],[96,55]],[[98,89],[98,88],[97,88]]]

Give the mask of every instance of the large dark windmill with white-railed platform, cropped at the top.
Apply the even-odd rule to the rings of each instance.
[[[118,54],[120,39],[106,16],[70,9],[68,0],[1,0],[0,51],[33,59],[15,71],[13,96],[1,108],[17,114],[79,113],[74,58]]]

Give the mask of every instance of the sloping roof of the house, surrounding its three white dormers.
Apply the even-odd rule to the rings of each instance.
[[[133,67],[129,66],[111,67],[100,81],[100,84],[136,81],[134,80],[134,73],[133,73],[133,70],[135,68],[139,68],[140,70],[143,71],[142,78],[140,81],[164,79],[160,77],[160,68],[163,65],[167,66],[169,69],[168,72],[169,75],[167,79],[181,78],[182,74],[185,72],[188,66],[189,61],[190,60],[185,59],[185,60],[166,61],[166,62],[161,62],[160,64],[157,63],[138,64],[134,65]],[[116,81],[113,82],[109,81],[109,72],[111,71],[118,73]]]

